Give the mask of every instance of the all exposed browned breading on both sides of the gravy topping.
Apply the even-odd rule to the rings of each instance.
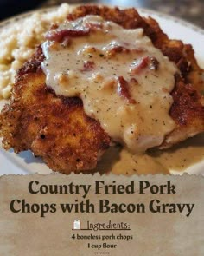
[[[170,109],[176,128],[160,148],[169,148],[204,131],[202,70],[190,45],[169,40],[155,20],[139,16],[135,9],[86,5],[77,7],[67,19],[86,15],[102,16],[126,29],[143,28],[155,47],[180,69],[181,74],[175,77],[174,103]],[[111,145],[111,138],[98,121],[85,114],[80,98],[57,96],[46,86],[41,70],[43,59],[38,47],[16,75],[10,102],[0,115],[3,148],[14,148],[15,152],[30,149],[54,171],[69,174],[91,170]]]

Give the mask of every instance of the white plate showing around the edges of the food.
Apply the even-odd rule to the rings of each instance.
[[[44,10],[43,10],[44,11]],[[172,16],[166,16],[161,13],[151,10],[139,10],[143,16],[152,16],[160,24],[161,28],[165,33],[168,34],[169,38],[181,39],[184,43],[191,43],[194,47],[195,56],[201,66],[204,68],[204,30],[186,23],[180,19]],[[14,20],[22,20],[29,14],[14,17],[3,23],[0,23],[1,27],[8,25],[8,23],[14,22]],[[0,108],[3,102],[0,102]],[[5,152],[0,146],[0,174],[49,174],[51,170],[46,164],[39,158],[35,158],[29,151],[22,152],[20,154],[14,154],[12,150]],[[204,174],[204,160],[195,164],[194,166],[188,167],[185,172],[189,174]],[[176,171],[172,171],[172,174],[177,174]],[[181,173],[180,173],[181,174]]]

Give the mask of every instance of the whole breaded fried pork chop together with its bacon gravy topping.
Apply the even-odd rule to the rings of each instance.
[[[0,115],[3,148],[30,149],[69,174],[122,147],[119,158],[136,169],[150,148],[204,131],[201,75],[192,47],[169,40],[152,18],[76,7],[18,71]]]

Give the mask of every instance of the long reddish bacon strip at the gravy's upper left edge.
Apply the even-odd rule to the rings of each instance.
[[[56,41],[61,43],[65,37],[70,36],[70,37],[79,37],[79,36],[86,36],[90,33],[89,29],[80,29],[80,30],[51,30],[48,31],[46,34],[46,39],[49,41]]]

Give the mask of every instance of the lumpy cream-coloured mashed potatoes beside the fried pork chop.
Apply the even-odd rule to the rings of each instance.
[[[33,54],[35,46],[43,41],[44,33],[53,23],[63,22],[69,12],[70,6],[63,3],[57,10],[36,12],[0,29],[0,99],[10,96],[16,70]]]

